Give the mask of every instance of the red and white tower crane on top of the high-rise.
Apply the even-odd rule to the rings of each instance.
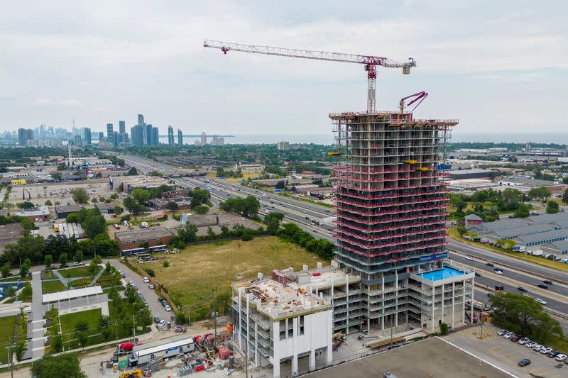
[[[386,57],[372,55],[344,54],[342,52],[325,52],[312,50],[297,50],[291,48],[274,48],[271,46],[241,45],[240,43],[222,42],[219,40],[204,40],[206,48],[217,48],[225,54],[231,50],[241,52],[253,52],[263,55],[277,55],[280,57],[301,57],[303,59],[328,60],[331,62],[359,63],[365,65],[367,72],[367,112],[376,112],[376,78],[377,66],[388,68],[402,68],[403,74],[410,74],[410,67],[416,67],[416,62],[409,57],[408,62],[399,63]]]

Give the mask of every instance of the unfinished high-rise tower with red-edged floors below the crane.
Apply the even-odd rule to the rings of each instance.
[[[424,320],[410,274],[447,258],[447,189],[440,155],[457,121],[412,113],[331,114],[339,162],[337,260],[361,276],[349,326],[397,327]]]

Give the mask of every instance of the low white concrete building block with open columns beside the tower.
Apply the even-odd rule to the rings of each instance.
[[[321,296],[261,273],[258,279],[232,284],[232,290],[233,338],[254,365],[272,365],[273,376],[281,377],[281,363],[291,361],[294,376],[302,357],[310,369],[320,353],[331,364],[332,307]]]

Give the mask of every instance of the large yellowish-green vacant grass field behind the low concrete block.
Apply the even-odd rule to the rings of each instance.
[[[191,306],[192,314],[209,308],[216,294],[230,292],[231,282],[270,274],[272,269],[307,264],[315,267],[317,255],[276,237],[255,238],[249,242],[192,245],[170,255],[170,266],[143,264],[155,271],[158,282],[168,287],[173,301]],[[193,315],[192,315],[193,318]]]

